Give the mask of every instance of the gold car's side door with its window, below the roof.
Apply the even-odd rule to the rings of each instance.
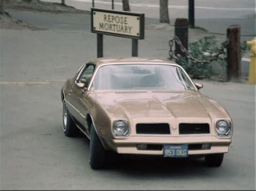
[[[89,104],[86,100],[87,94],[87,86],[91,80],[93,71],[95,70],[95,65],[91,63],[87,63],[84,67],[83,71],[77,76],[75,83],[85,83],[84,88],[79,88],[78,86],[73,87],[72,91],[72,104],[76,110],[76,123],[82,128],[83,130],[87,131],[86,124],[86,112],[89,109]]]

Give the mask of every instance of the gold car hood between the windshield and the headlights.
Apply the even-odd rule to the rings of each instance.
[[[223,107],[198,91],[116,91],[95,93],[93,98],[114,117],[229,117]]]

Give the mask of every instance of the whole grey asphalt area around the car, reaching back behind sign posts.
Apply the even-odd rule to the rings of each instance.
[[[62,132],[60,89],[95,57],[96,35],[74,24],[75,15],[61,15],[69,21],[65,25],[55,22],[58,14],[41,14],[39,25],[49,30],[0,30],[0,189],[255,189],[255,86],[240,83],[203,81],[201,92],[223,104],[234,121],[221,167],[119,156],[93,171],[86,137]],[[192,30],[190,40],[204,35]],[[173,31],[146,30],[139,55],[167,58],[171,36]],[[130,55],[131,41],[104,37],[104,51]]]

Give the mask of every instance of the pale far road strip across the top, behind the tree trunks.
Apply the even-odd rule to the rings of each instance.
[[[57,2],[61,0],[44,0]],[[112,9],[112,1],[94,0],[95,8]],[[241,18],[255,13],[255,0],[195,0],[197,18]],[[75,6],[77,9],[90,10],[92,0],[65,0],[65,4]],[[146,13],[147,17],[159,18],[159,1],[156,0],[130,0],[131,11]],[[114,9],[122,10],[122,1],[114,0]],[[170,0],[169,13],[171,18],[187,17],[187,0]]]

